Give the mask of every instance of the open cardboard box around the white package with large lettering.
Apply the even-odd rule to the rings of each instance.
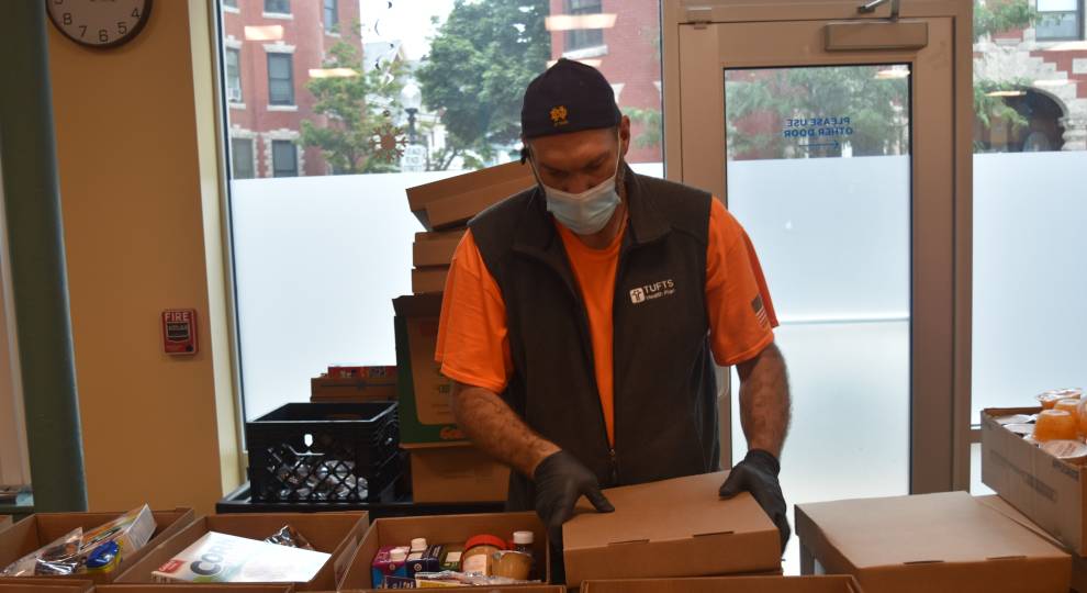
[[[317,551],[332,558],[306,583],[294,583],[298,591],[332,591],[338,588],[368,526],[367,513],[254,513],[209,515],[165,540],[139,562],[132,564],[117,584],[155,584],[152,572],[194,544],[208,532],[249,539],[265,539],[284,525],[299,530]],[[276,583],[279,584],[279,583]],[[179,585],[169,585],[179,586]],[[231,585],[236,586],[236,585]],[[172,591],[172,589],[171,589]]]

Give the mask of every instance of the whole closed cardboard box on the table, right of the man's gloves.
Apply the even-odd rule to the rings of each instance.
[[[1072,558],[966,492],[796,506],[803,547],[870,593],[1064,593]]]

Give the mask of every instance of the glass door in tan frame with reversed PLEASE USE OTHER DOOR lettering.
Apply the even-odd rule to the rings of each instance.
[[[905,2],[896,20],[852,2],[709,4],[665,14],[666,176],[722,199],[761,259],[793,394],[791,510],[950,490],[966,436],[955,72],[968,89],[970,60],[953,48],[968,3]],[[736,462],[747,444],[728,391]],[[794,538],[787,572],[796,552]]]

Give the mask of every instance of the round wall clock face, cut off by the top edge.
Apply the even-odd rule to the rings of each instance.
[[[121,45],[139,33],[152,0],[44,0],[53,24],[71,41],[90,47]]]

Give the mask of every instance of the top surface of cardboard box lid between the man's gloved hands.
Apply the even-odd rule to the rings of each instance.
[[[615,513],[597,513],[582,499],[562,528],[567,551],[639,541],[777,529],[750,494],[721,500],[727,472],[706,473],[604,491]],[[646,517],[653,517],[646,521]]]

